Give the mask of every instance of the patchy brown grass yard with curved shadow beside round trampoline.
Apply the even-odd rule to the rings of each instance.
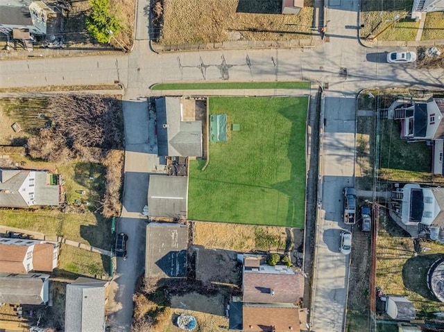
[[[417,315],[443,311],[427,288],[427,271],[432,263],[444,256],[444,245],[421,242],[430,250],[413,255],[413,239],[387,216],[379,218],[376,247],[376,285],[386,294],[404,295],[415,306]]]

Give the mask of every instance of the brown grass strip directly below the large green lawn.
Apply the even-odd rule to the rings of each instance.
[[[275,247],[263,247],[258,238],[266,234]],[[264,236],[262,236],[263,238]],[[285,227],[228,224],[223,222],[194,222],[194,245],[203,247],[250,252],[255,250],[282,250],[287,238]],[[258,243],[259,242],[259,243]]]

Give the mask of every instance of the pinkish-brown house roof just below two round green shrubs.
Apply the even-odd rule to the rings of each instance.
[[[304,294],[304,277],[300,273],[244,270],[242,285],[244,302],[296,303]]]

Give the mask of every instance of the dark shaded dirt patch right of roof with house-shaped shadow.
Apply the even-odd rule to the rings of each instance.
[[[205,285],[223,283],[240,286],[241,264],[237,261],[236,252],[197,246],[192,246],[191,250],[196,257],[196,279]]]

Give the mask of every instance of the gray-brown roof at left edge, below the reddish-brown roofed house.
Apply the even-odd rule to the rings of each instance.
[[[39,277],[31,277],[36,275]],[[44,304],[48,301],[48,274],[0,275],[0,303]]]

